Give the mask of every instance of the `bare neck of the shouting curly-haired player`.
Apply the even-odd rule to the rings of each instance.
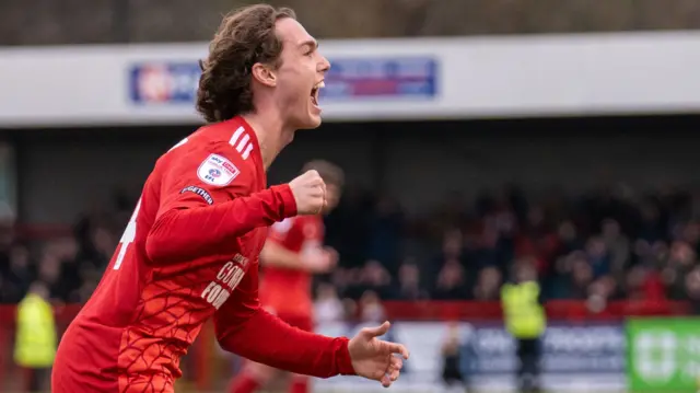
[[[243,115],[243,118],[253,127],[260,146],[262,164],[267,171],[277,155],[291,141],[293,130],[285,129],[280,117],[261,116],[259,112]]]

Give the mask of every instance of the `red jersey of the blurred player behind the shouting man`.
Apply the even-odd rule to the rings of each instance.
[[[299,254],[323,246],[324,222],[320,216],[288,218],[272,224],[268,242]],[[270,311],[285,316],[311,317],[312,277],[306,270],[277,266],[265,267],[260,282],[260,303]]]

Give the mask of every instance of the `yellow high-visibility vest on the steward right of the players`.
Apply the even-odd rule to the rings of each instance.
[[[538,298],[539,285],[535,281],[501,288],[505,328],[515,338],[537,338],[545,332],[547,316]]]

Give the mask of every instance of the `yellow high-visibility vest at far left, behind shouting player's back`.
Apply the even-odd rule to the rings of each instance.
[[[56,358],[56,323],[51,304],[30,293],[18,304],[14,361],[26,368],[47,368]]]

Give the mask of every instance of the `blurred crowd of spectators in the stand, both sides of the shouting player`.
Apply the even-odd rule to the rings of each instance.
[[[108,264],[132,201],[81,217],[72,235],[33,242],[14,235],[0,209],[0,299],[18,302],[31,282],[61,302],[83,302]],[[625,186],[567,197],[527,197],[515,187],[469,204],[459,195],[423,216],[390,197],[349,190],[327,217],[339,266],[319,277],[318,311],[360,301],[380,317],[380,300],[497,300],[513,266],[532,264],[545,299],[700,302],[700,194]]]

